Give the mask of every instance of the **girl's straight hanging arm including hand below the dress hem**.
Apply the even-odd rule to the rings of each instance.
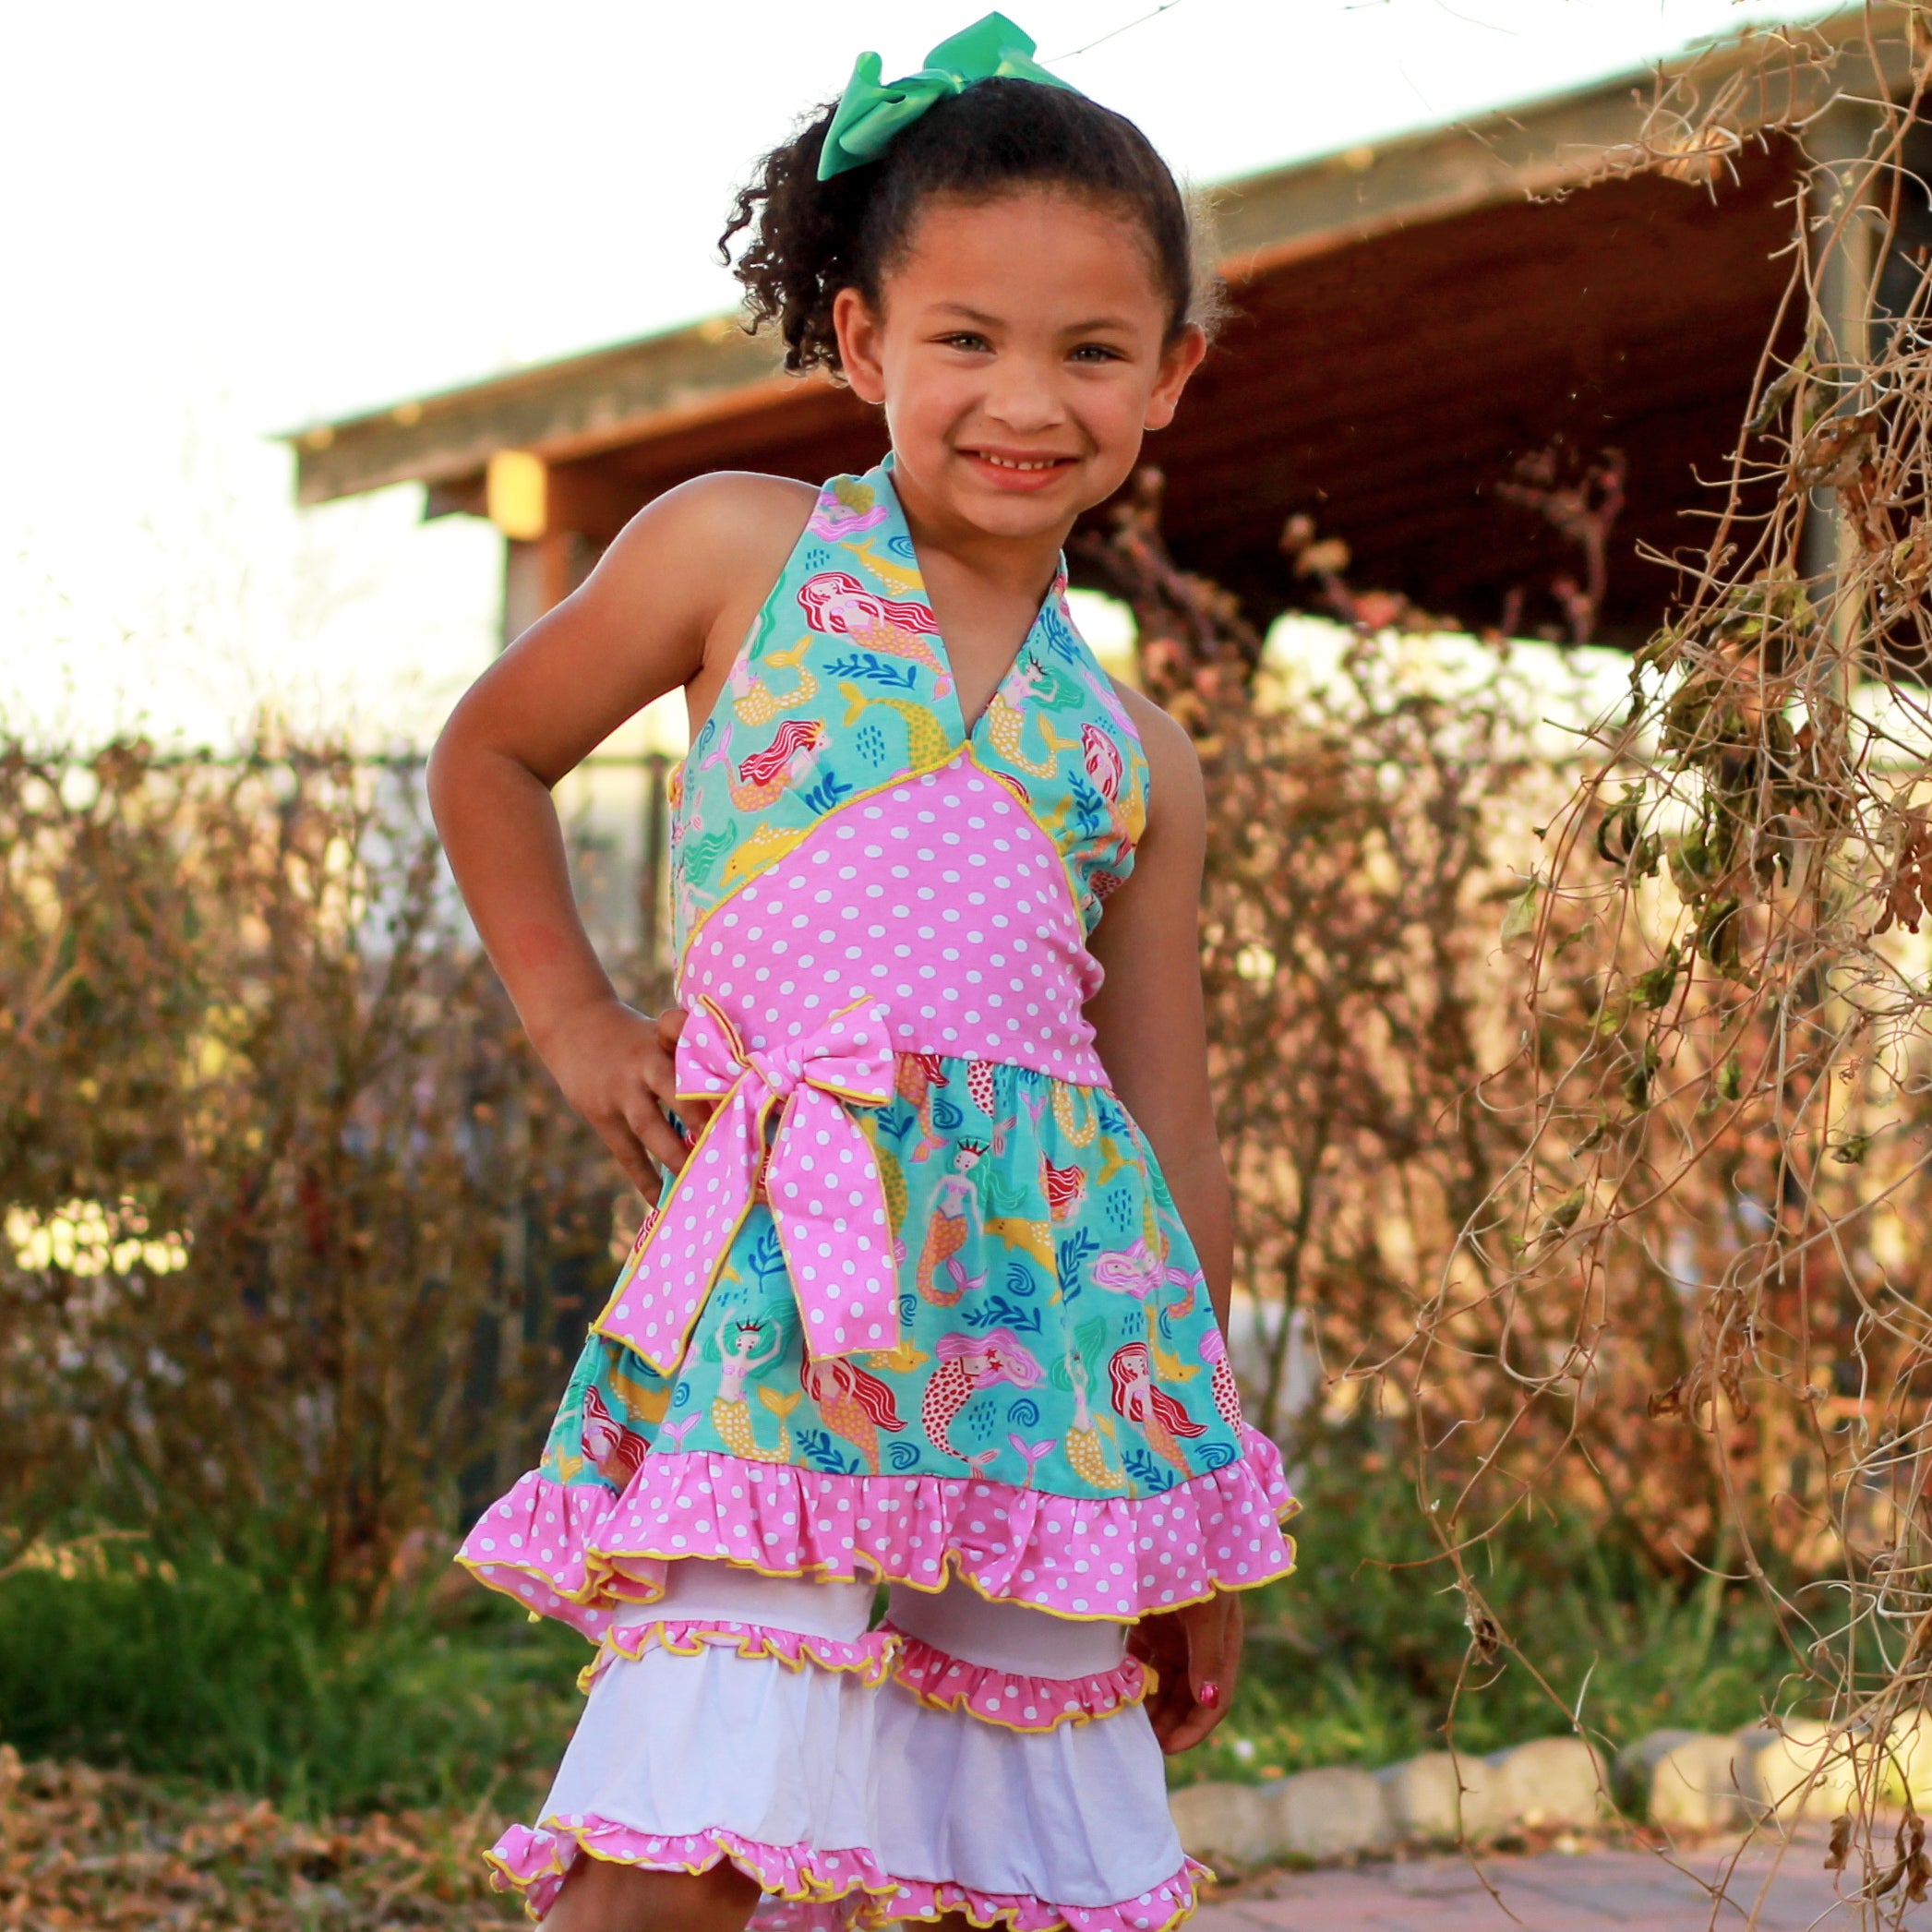
[[[1134,871],[1107,900],[1090,941],[1107,978],[1088,1003],[1115,1094],[1140,1122],[1227,1329],[1235,1217],[1208,1094],[1200,896],[1208,798],[1188,734],[1140,692],[1121,690],[1148,753],[1148,829]],[[1159,1689],[1148,1718],[1161,1750],[1190,1750],[1227,1716],[1240,1667],[1240,1598],[1144,1617],[1132,1634]]]

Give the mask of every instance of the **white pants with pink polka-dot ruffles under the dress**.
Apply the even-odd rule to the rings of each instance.
[[[962,1911],[1014,1932],[1167,1932],[1202,1868],[1180,1851],[1151,1673],[1126,1627],[968,1584],[670,1565],[585,1673],[589,1700],[535,1830],[491,1853],[535,1917],[580,1857],[701,1872],[730,1859],[759,1932]]]

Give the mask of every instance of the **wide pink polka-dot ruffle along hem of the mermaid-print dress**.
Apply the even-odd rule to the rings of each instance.
[[[464,1538],[481,1582],[601,1640],[624,1604],[653,1604],[665,1563],[713,1557],[775,1577],[937,1590],[956,1571],[989,1598],[1059,1617],[1134,1621],[1285,1577],[1296,1505],[1281,1451],[1153,1495],[1055,1495],[972,1476],[854,1476],[711,1451],[647,1455],[622,1492],[531,1470]]]

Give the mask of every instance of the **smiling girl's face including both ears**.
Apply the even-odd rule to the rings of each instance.
[[[1206,350],[1167,338],[1138,226],[1049,189],[933,201],[881,294],[837,298],[846,381],[885,404],[902,495],[989,537],[1111,497]]]

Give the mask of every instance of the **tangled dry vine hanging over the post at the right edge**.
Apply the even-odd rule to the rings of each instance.
[[[1718,77],[1660,81],[1611,156],[1694,184],[1781,143],[1791,284],[1708,547],[1667,560],[1685,597],[1546,831],[1522,1078],[1478,1090],[1520,1153],[1406,1368],[1445,1561],[1490,1648],[1534,1662],[1476,1553],[1588,1455],[1629,1354],[1619,1277],[1673,1283],[1650,1439],[1700,1443],[1719,1505],[1687,1557],[1783,1619],[1781,1808],[1843,1814],[1847,1889],[1886,1922],[1924,1889],[1932,1777],[1932,319],[1907,232],[1926,27],[1872,6],[1857,37],[1762,35]],[[1515,1345],[1530,1310],[1563,1310],[1561,1360]],[[1457,1401],[1470,1358],[1507,1366],[1507,1403],[1495,1379]],[[1891,1851],[1880,1801],[1913,1828]]]

